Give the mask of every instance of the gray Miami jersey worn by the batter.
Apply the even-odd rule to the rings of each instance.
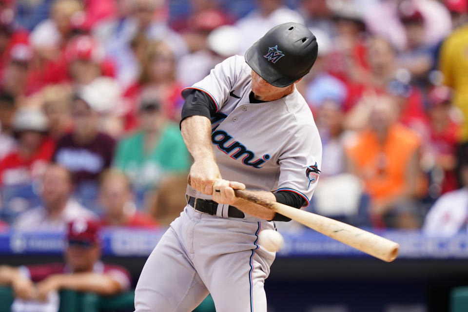
[[[215,101],[212,142],[223,179],[247,189],[289,190],[308,204],[322,160],[311,110],[296,89],[275,101],[250,103],[251,71],[243,57],[228,58],[182,96],[198,89]],[[190,186],[187,195],[210,199]]]

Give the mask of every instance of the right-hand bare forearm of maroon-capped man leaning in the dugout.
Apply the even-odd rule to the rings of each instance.
[[[78,292],[96,292],[101,295],[113,295],[122,291],[120,283],[106,274],[75,273],[58,274],[55,279],[57,289],[70,289]]]

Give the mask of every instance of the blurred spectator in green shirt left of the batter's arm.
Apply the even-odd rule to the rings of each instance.
[[[118,143],[114,166],[146,191],[167,174],[188,172],[191,159],[178,125],[165,119],[156,99],[142,99],[138,117],[139,130]]]

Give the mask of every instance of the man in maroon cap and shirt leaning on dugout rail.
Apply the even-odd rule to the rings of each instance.
[[[46,300],[61,289],[114,295],[128,290],[130,275],[122,267],[101,262],[96,221],[69,223],[65,263],[21,267],[0,266],[0,285],[11,285],[16,298]]]

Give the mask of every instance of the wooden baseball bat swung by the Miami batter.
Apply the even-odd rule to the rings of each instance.
[[[400,245],[387,238],[361,230],[349,224],[296,209],[281,203],[260,198],[252,193],[234,190],[237,197],[254,202],[255,204],[272,209],[274,212],[285,215],[292,220],[336,239],[348,246],[370,254],[381,260],[391,262],[398,255]]]

